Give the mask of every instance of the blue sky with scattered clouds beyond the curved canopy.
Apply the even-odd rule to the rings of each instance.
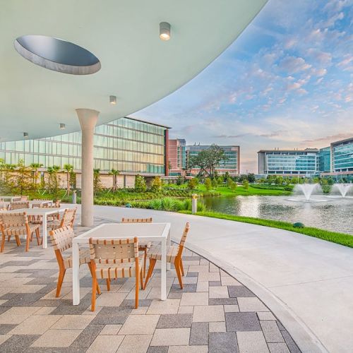
[[[261,149],[353,137],[353,0],[269,0],[196,78],[133,116],[189,145],[240,145],[241,173]]]

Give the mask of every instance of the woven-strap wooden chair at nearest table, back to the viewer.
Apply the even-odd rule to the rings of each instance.
[[[138,257],[138,239],[89,239],[92,266],[92,305],[95,311],[95,287],[98,279],[136,277],[135,309],[138,308],[138,281],[143,289],[142,268]],[[108,283],[108,281],[107,281]]]

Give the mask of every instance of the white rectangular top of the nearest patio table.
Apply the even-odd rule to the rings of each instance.
[[[74,242],[88,242],[89,238],[148,238],[149,240],[167,238],[170,223],[104,223],[88,232],[73,238]]]

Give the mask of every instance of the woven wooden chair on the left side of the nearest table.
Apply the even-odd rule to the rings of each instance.
[[[61,292],[61,286],[63,285],[66,270],[72,268],[73,257],[72,257],[72,239],[75,237],[75,233],[71,227],[65,226],[49,232],[50,239],[52,241],[52,246],[54,248],[56,260],[59,265],[59,277],[58,284],[56,285],[55,297],[59,297]],[[80,250],[80,265],[84,263],[88,264],[90,268],[90,273],[92,275],[92,266],[90,263],[90,250],[83,249]],[[96,290],[100,294],[100,287],[97,285]]]

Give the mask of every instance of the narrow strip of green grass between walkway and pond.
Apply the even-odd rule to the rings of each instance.
[[[180,213],[191,214],[190,211],[180,211]],[[251,223],[253,225],[263,225],[265,227],[285,229],[291,232],[309,235],[310,237],[331,241],[332,243],[349,246],[349,248],[353,248],[353,236],[350,234],[330,232],[328,230],[318,229],[313,227],[296,228],[296,227],[293,227],[292,223],[289,223],[289,222],[281,222],[276,220],[262,220],[261,218],[226,215],[225,213],[206,211],[206,212],[198,212],[197,215],[204,216],[204,217],[220,218],[222,220],[232,220],[237,222]]]

